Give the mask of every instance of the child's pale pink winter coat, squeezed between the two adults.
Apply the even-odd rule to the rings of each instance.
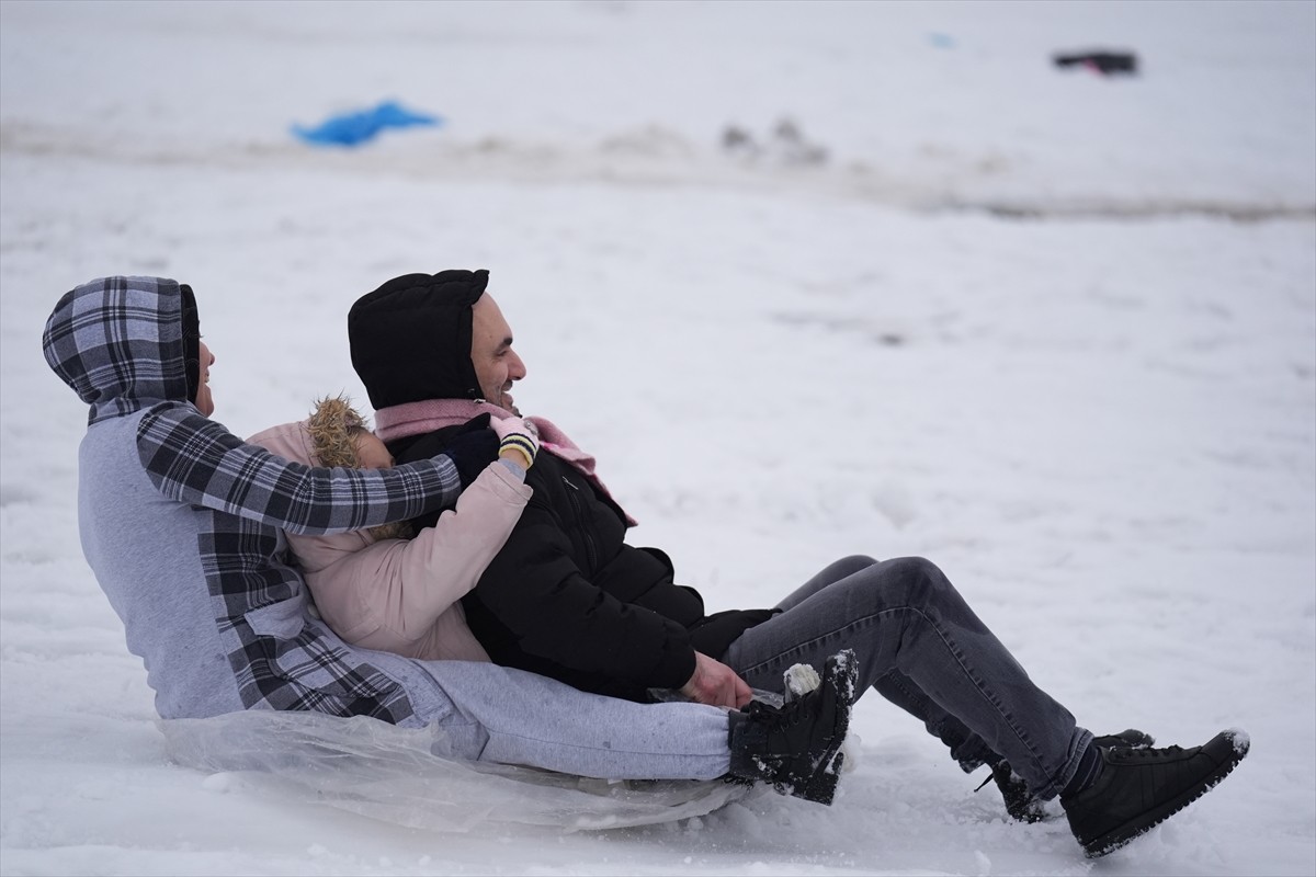
[[[318,465],[305,421],[251,437],[272,454]],[[457,508],[411,540],[370,533],[288,535],[321,617],[343,640],[425,660],[487,661],[461,598],[507,542],[533,490],[500,463]]]

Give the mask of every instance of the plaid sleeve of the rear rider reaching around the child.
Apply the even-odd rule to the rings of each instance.
[[[415,518],[457,502],[445,456],[392,469],[313,469],[247,444],[180,405],[161,405],[137,427],[137,452],[171,500],[228,511],[288,533],[320,535]]]

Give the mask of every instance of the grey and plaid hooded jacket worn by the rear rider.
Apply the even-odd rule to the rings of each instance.
[[[190,291],[188,291],[190,292]],[[105,277],[64,295],[46,362],[91,405],[79,448],[83,552],[164,718],[313,710],[417,724],[433,678],[357,651],[307,615],[283,530],[329,534],[413,518],[461,489],[447,458],[316,469],[246,444],[187,401],[184,291]]]

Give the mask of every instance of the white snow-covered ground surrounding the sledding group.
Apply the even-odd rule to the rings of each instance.
[[[1142,72],[1051,66],[1087,47]],[[288,134],[390,97],[446,124]],[[1316,873],[1313,155],[1305,1],[0,3],[0,872]],[[349,305],[447,267],[711,609],[925,555],[1082,723],[1252,755],[1099,865],[875,696],[836,806],[607,832],[171,763],[78,546],[50,308],[191,283],[249,434],[365,400]]]

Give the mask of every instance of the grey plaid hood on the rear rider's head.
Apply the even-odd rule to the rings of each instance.
[[[59,298],[41,343],[50,368],[91,405],[88,423],[190,401],[188,293],[166,277],[101,277]]]

